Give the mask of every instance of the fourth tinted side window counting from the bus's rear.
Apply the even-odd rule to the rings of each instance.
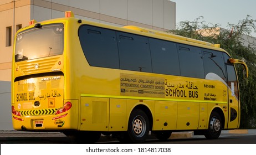
[[[195,46],[177,44],[181,76],[204,79],[201,49]]]

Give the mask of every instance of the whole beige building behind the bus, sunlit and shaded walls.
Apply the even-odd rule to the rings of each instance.
[[[11,67],[14,33],[37,22],[64,17],[116,26],[137,25],[156,30],[175,29],[176,3],[168,0],[1,0],[0,1],[0,130],[12,130]]]

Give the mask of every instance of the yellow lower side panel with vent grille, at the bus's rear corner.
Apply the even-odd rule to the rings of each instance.
[[[109,130],[109,98],[81,97],[80,130]]]

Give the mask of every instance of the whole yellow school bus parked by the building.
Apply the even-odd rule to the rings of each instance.
[[[219,45],[135,26],[74,18],[30,21],[16,34],[12,67],[15,130],[101,134],[143,142],[151,131],[218,138],[239,127],[234,64]]]

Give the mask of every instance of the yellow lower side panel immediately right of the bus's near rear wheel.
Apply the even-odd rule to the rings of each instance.
[[[176,130],[177,102],[155,101],[153,130]]]

